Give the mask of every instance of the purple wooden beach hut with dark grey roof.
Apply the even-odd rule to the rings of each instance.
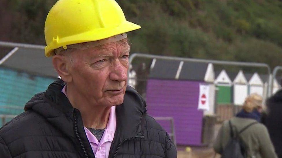
[[[204,114],[198,110],[199,85],[213,81],[212,64],[157,59],[151,66],[146,90],[148,113],[173,117],[178,145],[202,145]],[[170,132],[169,121],[158,122]]]

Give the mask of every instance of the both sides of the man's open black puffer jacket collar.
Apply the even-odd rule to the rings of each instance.
[[[25,110],[33,110],[46,118],[54,127],[75,140],[73,130],[73,113],[77,111],[80,133],[84,131],[81,115],[74,109],[66,96],[61,92],[65,83],[58,79],[49,85],[44,93],[34,96],[26,105]],[[127,86],[124,102],[116,106],[117,127],[111,150],[115,151],[118,144],[125,139],[144,135],[142,132],[142,120],[146,114],[146,104],[132,87]],[[84,133],[86,138],[86,134]],[[87,141],[87,140],[86,140]],[[88,142],[89,144],[89,142]],[[111,153],[110,153],[111,155]]]

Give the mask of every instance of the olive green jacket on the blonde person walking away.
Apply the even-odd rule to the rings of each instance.
[[[254,119],[233,117],[231,124],[237,127],[238,131],[245,126],[255,122]],[[240,135],[240,140],[246,145],[246,152],[248,158],[277,158],[274,147],[270,140],[266,127],[261,123],[256,123],[248,127]],[[224,121],[218,132],[218,136],[214,142],[214,150],[221,154],[224,147],[229,142],[230,126],[229,120]]]

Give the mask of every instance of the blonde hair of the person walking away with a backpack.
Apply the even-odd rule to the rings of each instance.
[[[254,109],[262,108],[262,97],[256,93],[249,95],[242,108],[248,113],[251,113]]]

